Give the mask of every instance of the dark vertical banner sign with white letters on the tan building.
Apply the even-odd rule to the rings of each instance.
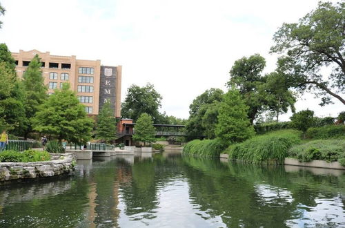
[[[101,66],[101,79],[99,80],[99,111],[104,103],[109,102],[115,116],[115,96],[117,70],[115,66]]]

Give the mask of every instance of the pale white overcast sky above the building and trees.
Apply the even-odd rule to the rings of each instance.
[[[161,111],[188,118],[195,97],[209,88],[226,91],[235,60],[259,53],[266,59],[264,73],[275,70],[277,55],[269,53],[274,33],[317,2],[0,0],[6,8],[0,42],[12,52],[37,49],[121,65],[122,101],[131,84],[151,83],[163,97]],[[336,117],[344,105],[333,101],[321,107],[319,99],[304,95],[295,106]]]

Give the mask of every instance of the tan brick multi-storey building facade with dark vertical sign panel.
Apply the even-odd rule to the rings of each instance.
[[[115,117],[121,116],[121,66],[101,66],[101,60],[81,60],[75,55],[19,50],[19,53],[12,53],[19,77],[23,77],[34,55],[41,58],[42,75],[49,94],[68,82],[88,115],[98,115],[103,104],[110,102]]]

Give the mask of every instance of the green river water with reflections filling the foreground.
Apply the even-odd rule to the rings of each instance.
[[[147,226],[345,227],[345,173],[164,152],[0,187],[0,227]]]

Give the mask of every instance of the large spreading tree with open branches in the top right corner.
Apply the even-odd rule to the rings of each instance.
[[[345,104],[345,2],[319,2],[298,23],[284,23],[273,37],[271,52],[283,54],[278,70],[300,92],[315,91],[321,105],[331,97]],[[324,68],[332,68],[326,73]]]

